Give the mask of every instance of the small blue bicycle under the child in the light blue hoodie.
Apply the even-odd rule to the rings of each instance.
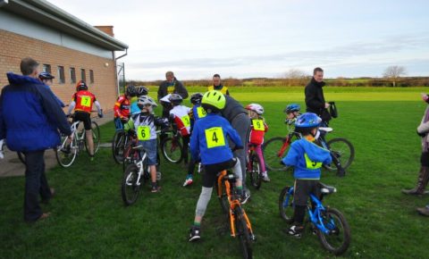
[[[319,183],[320,199],[310,194],[311,207],[307,205],[308,220],[312,224],[313,233],[317,234],[324,249],[334,255],[341,255],[350,245],[350,228],[342,213],[329,206],[324,207],[324,196],[336,192],[336,188]],[[293,222],[293,187],[282,189],[279,197],[279,210],[282,219]]]

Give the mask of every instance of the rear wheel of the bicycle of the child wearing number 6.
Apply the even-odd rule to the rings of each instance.
[[[122,177],[122,201],[125,205],[132,205],[139,197],[139,167],[135,163],[127,166]],[[141,180],[144,180],[142,178]]]

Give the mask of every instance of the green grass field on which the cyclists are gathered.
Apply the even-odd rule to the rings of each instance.
[[[192,88],[190,91],[201,91]],[[151,89],[153,91],[153,89]],[[413,187],[421,152],[416,126],[425,110],[420,92],[425,88],[326,88],[336,101],[340,116],[332,121],[328,138],[348,138],[356,158],[345,178],[324,171],[322,181],[338,189],[324,200],[344,213],[351,227],[349,258],[422,258],[429,246],[428,218],[416,206],[429,196],[405,196],[401,188]],[[285,104],[303,105],[302,88],[240,88],[231,95],[265,106],[270,130],[265,139],[285,134]],[[371,101],[371,102],[368,102]],[[159,108],[158,108],[159,109]],[[104,141],[114,134],[113,123],[102,128]],[[201,189],[199,175],[190,188],[181,184],[186,171],[181,165],[162,164],[162,191],[142,189],[135,205],[122,205],[122,167],[110,149],[103,149],[94,163],[82,153],[70,169],[47,172],[57,196],[45,211],[46,221],[22,221],[23,177],[0,179],[0,258],[240,258],[238,240],[223,230],[216,196],[208,206],[202,240],[187,241]],[[331,258],[309,230],[301,239],[288,237],[288,225],[279,216],[278,196],[292,184],[290,172],[270,173],[272,182],[260,190],[251,188],[245,208],[257,242],[255,258]]]

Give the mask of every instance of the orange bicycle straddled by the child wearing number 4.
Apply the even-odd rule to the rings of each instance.
[[[243,258],[252,258],[251,244],[256,238],[248,215],[241,207],[239,195],[235,189],[235,180],[236,177],[231,171],[221,171],[217,178],[217,196],[221,202],[223,213],[228,216],[231,237],[239,237]]]

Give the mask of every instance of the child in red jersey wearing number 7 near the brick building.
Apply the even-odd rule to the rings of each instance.
[[[97,106],[98,117],[103,118],[103,110],[101,109],[101,105],[98,103],[96,96],[89,92],[87,84],[83,80],[80,80],[76,86],[76,93],[71,97],[71,103],[69,104],[69,112],[67,115],[70,115],[74,109],[73,121],[83,122],[91,161],[94,160],[94,140],[92,139],[91,130],[91,111],[93,104],[96,104]]]

